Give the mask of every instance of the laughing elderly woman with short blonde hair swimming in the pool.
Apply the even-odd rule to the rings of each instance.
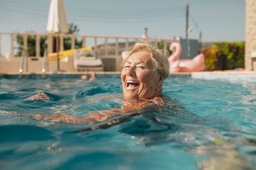
[[[164,105],[161,98],[162,82],[169,75],[169,63],[161,50],[154,48],[151,44],[137,43],[122,62],[122,67],[124,103],[121,109],[91,112],[84,118],[77,118],[70,114],[37,114],[33,117],[53,122],[93,124],[113,118],[117,114],[129,116],[132,111],[134,114],[137,110],[150,105]],[[113,124],[119,121],[115,120]]]

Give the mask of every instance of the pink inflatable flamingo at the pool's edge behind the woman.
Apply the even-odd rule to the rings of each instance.
[[[195,56],[193,59],[182,59],[179,60],[182,54],[182,46],[178,42],[173,42],[170,46],[170,50],[174,51],[169,56],[169,68],[170,73],[173,72],[193,72],[193,71],[204,71],[205,70],[205,56],[201,53]]]

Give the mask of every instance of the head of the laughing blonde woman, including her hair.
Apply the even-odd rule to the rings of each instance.
[[[169,75],[169,63],[162,50],[137,43],[122,62],[125,99],[152,99],[162,95],[162,82]]]

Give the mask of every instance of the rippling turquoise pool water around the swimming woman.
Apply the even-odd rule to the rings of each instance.
[[[255,82],[172,75],[163,84],[164,107],[94,131],[100,123],[31,118],[122,107],[119,75],[80,78],[1,77],[0,169],[255,169]],[[51,100],[27,100],[39,92]]]

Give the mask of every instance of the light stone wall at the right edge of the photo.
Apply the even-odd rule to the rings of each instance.
[[[245,68],[256,70],[256,1],[246,0],[246,23],[245,23]],[[252,56],[255,55],[255,58]],[[254,60],[254,62],[252,61]]]

